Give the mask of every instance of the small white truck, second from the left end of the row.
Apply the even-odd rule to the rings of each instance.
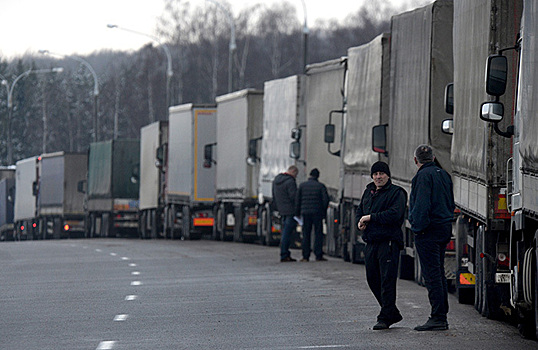
[[[19,160],[15,166],[15,236],[17,240],[37,239],[37,198],[34,184],[37,181],[37,156]],[[42,236],[41,236],[42,237]]]

